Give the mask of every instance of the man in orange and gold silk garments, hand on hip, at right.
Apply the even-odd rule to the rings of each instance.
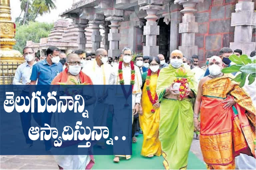
[[[235,156],[240,153],[255,158],[255,108],[232,75],[221,72],[224,66],[218,56],[209,59],[210,75],[200,80],[194,107],[194,126],[200,130],[207,169],[235,169]]]

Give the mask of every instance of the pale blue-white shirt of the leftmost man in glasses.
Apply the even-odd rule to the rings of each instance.
[[[35,65],[37,62],[35,61],[33,65]],[[28,65],[28,62],[24,62],[21,65],[18,66],[15,72],[15,76],[13,79],[13,84],[18,85],[18,84],[26,84],[30,83],[30,76],[32,73],[32,66]],[[21,82],[20,82],[21,81]]]

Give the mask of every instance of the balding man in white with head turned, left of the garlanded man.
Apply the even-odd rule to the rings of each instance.
[[[112,67],[108,64],[107,50],[99,48],[95,51],[95,56],[95,60],[87,64],[82,71],[91,78],[93,85],[108,85]],[[94,124],[97,126],[107,126],[109,104],[106,97],[108,96],[108,89],[103,86],[103,88],[98,88],[95,93],[97,102],[94,105],[93,111]],[[97,145],[104,148],[104,143],[104,138],[101,138]]]

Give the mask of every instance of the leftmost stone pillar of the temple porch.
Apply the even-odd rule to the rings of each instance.
[[[86,38],[85,38],[85,28],[88,27],[88,20],[86,19],[74,19],[73,20],[75,27],[78,28],[78,49],[85,50]]]

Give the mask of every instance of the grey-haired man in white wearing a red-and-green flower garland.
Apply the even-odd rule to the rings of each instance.
[[[114,66],[113,71],[110,74],[109,84],[112,85],[130,85],[129,88],[123,89],[123,94],[125,96],[132,95],[132,121],[133,122],[133,115],[138,114],[141,112],[139,110],[140,100],[141,100],[141,86],[142,86],[142,79],[139,67],[137,67],[132,60],[132,51],[131,48],[125,47],[121,54],[123,61],[120,61],[117,66]],[[118,116],[118,109],[114,107],[114,117]],[[116,128],[114,128],[113,122],[113,133]],[[127,128],[127,127],[124,127]],[[127,132],[127,136],[131,137],[131,131]],[[113,145],[113,148],[115,145]],[[115,151],[115,148],[114,148]],[[115,155],[114,162],[119,162],[119,157],[126,157],[129,159],[131,155]]]

